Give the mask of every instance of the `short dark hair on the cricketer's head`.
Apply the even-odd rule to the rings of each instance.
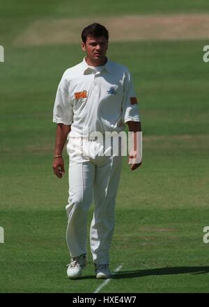
[[[105,26],[102,26],[102,24],[90,24],[89,26],[86,26],[84,30],[82,31],[82,41],[84,44],[86,44],[86,38],[87,36],[93,36],[94,38],[99,38],[100,36],[104,36],[104,38],[109,39],[109,33]]]

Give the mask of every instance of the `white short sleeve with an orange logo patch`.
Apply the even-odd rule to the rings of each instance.
[[[134,90],[134,84],[132,81],[132,76],[128,70],[125,72],[122,111],[123,111],[122,113],[123,123],[126,123],[130,120],[134,122],[140,121],[139,107],[138,107],[136,93]]]

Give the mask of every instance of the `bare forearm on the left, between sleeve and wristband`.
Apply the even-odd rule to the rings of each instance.
[[[63,147],[67,140],[68,133],[70,132],[70,125],[57,124],[56,127],[56,143],[54,155],[61,155],[63,152]]]

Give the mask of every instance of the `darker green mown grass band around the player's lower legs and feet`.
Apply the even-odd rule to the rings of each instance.
[[[92,212],[91,212],[92,213]],[[84,276],[65,276],[65,212],[1,212],[1,292],[93,292],[100,285],[89,258]],[[208,249],[201,228],[208,210],[123,208],[116,212],[111,268],[123,268],[102,292],[208,292]],[[196,221],[196,216],[199,221]],[[131,223],[130,223],[131,222]]]

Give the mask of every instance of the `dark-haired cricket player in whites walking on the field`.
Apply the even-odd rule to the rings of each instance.
[[[79,278],[86,267],[88,210],[94,200],[90,244],[96,278],[109,278],[109,248],[114,232],[114,209],[121,175],[121,150],[105,143],[108,133],[120,133],[128,125],[132,132],[130,170],[141,165],[141,123],[137,97],[129,70],[107,56],[109,33],[101,24],[82,31],[82,63],[65,70],[54,102],[56,145],[53,169],[58,178],[65,173],[62,157],[67,143],[69,198],[66,205],[66,241],[71,262],[67,276]],[[140,134],[141,135],[141,134]],[[97,137],[95,137],[97,136]],[[137,145],[138,144],[138,145]]]

